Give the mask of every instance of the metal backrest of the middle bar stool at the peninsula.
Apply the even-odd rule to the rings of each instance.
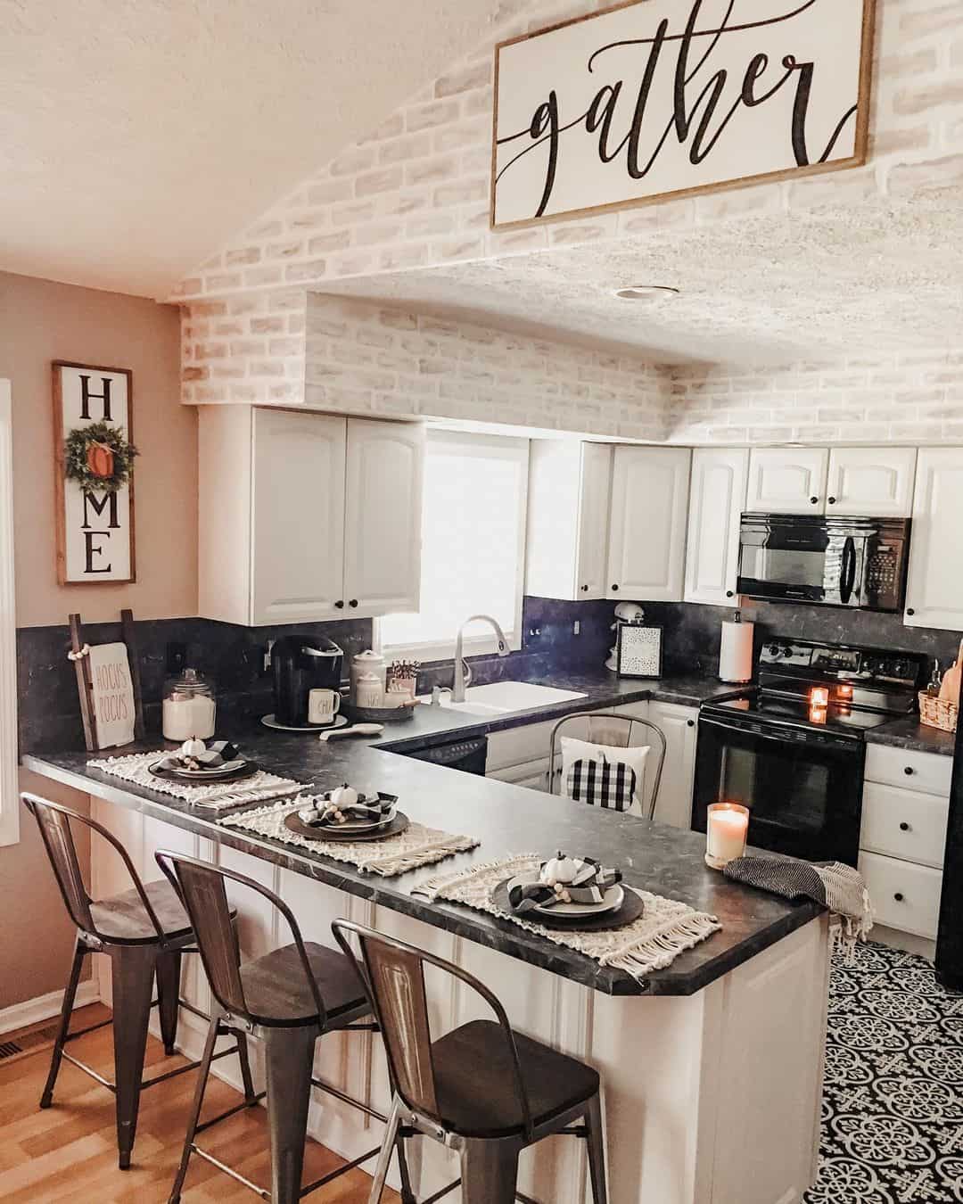
[[[231,908],[228,902],[226,883],[232,881],[267,899],[286,920],[291,939],[300,955],[308,990],[318,1009],[318,1023],[324,1026],[325,1005],[318,990],[318,982],[311,972],[301,929],[283,899],[253,878],[247,878],[232,869],[224,869],[223,866],[212,866],[196,857],[187,857],[183,854],[164,849],[155,852],[154,857],[179,895],[190,916],[211,990],[226,1013],[241,1016],[252,1023],[270,1023],[272,1019],[254,1016],[244,998],[244,986],[241,979],[241,946],[231,922]],[[282,1023],[280,1019],[277,1022]]]

